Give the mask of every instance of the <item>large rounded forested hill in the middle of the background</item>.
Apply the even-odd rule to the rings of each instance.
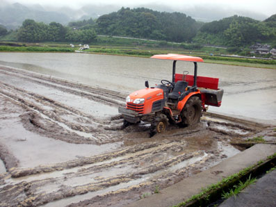
[[[185,42],[192,40],[200,23],[183,13],[166,13],[147,8],[121,8],[97,19],[97,33],[133,38]]]

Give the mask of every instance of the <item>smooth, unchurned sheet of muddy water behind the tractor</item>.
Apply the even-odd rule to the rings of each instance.
[[[87,85],[131,92],[171,80],[171,61],[86,53],[0,53],[0,64],[58,76]],[[276,71],[216,64],[198,64],[198,75],[220,78],[225,90],[220,108],[210,111],[276,122]],[[177,63],[177,72],[193,74],[193,63]]]

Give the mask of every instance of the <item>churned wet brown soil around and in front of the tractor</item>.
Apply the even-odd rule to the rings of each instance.
[[[275,127],[205,114],[122,129],[127,94],[0,66],[0,206],[123,206],[238,154]]]

